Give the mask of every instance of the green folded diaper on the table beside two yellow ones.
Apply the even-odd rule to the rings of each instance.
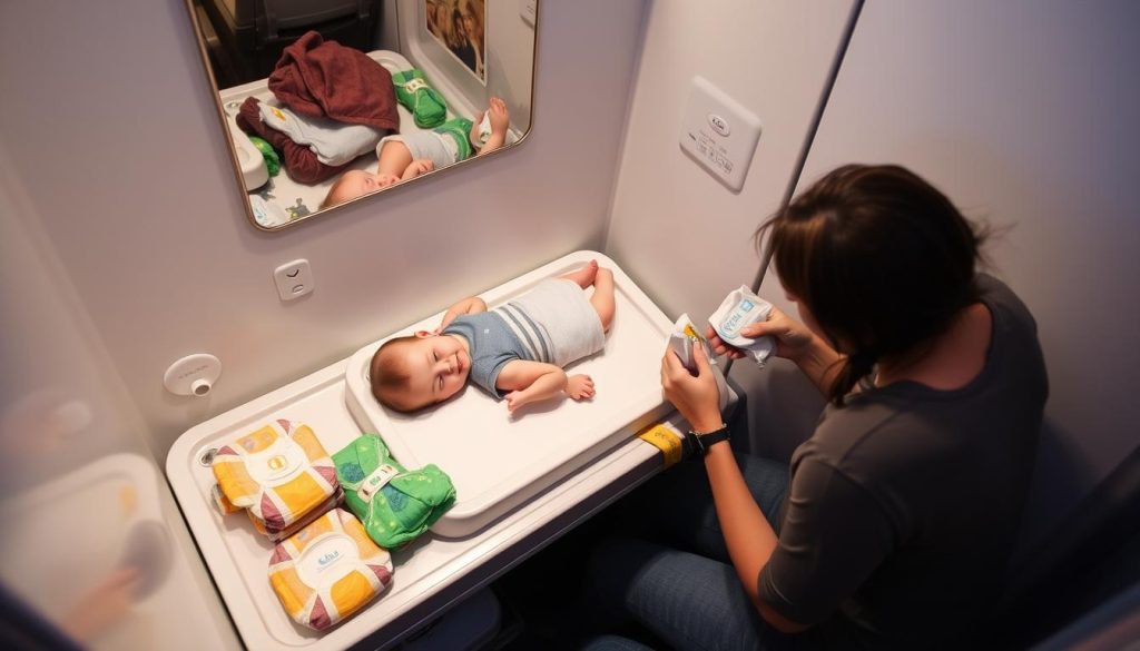
[[[344,502],[372,539],[394,550],[410,543],[455,504],[455,487],[434,464],[407,471],[374,434],[333,455]]]

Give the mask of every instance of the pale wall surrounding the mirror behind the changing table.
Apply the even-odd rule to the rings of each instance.
[[[187,11],[5,2],[0,148],[162,459],[196,422],[583,247],[600,249],[643,2],[543,2],[535,129],[480,164],[278,234],[245,221]],[[604,19],[600,19],[603,17]],[[308,258],[312,295],[271,272]],[[9,309],[9,306],[5,306]],[[223,372],[164,393],[179,357]]]

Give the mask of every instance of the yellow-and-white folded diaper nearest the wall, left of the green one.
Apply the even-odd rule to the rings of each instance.
[[[328,508],[341,490],[317,436],[285,420],[223,445],[214,453],[213,473],[229,505],[247,510],[258,530],[276,539]]]

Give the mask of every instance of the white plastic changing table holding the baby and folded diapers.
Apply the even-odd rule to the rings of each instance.
[[[450,522],[441,520],[442,532],[433,528],[407,548],[392,552],[396,565],[392,586],[332,629],[320,633],[309,630],[287,617],[266,573],[272,545],[253,531],[244,514],[222,516],[213,507],[210,493],[214,478],[209,459],[223,441],[256,429],[270,418],[287,418],[310,425],[329,454],[363,432],[392,428],[391,415],[384,414],[375,402],[363,405],[359,397],[352,394],[352,382],[359,379],[345,380],[345,373],[351,368],[358,369],[359,358],[368,353],[353,356],[356,365],[353,358],[344,359],[215,416],[192,428],[176,441],[166,458],[171,487],[247,648],[332,650],[358,643],[377,649],[394,645],[662,467],[661,453],[638,439],[637,432],[658,422],[671,423],[678,431],[684,431],[686,425],[662,401],[656,373],[645,376],[645,369],[641,368],[634,372],[635,381],[621,386],[621,377],[614,376],[620,367],[613,367],[612,363],[629,355],[630,359],[638,358],[638,365],[650,364],[659,368],[671,320],[612,260],[589,251],[572,253],[483,295],[494,307],[496,300],[505,300],[539,277],[559,275],[564,272],[563,269],[577,268],[591,259],[614,271],[617,316],[606,350],[571,365],[568,371],[594,376],[598,385],[598,405],[567,400],[551,409],[524,415],[516,422],[506,417],[505,405],[491,406],[502,407],[503,417],[497,423],[505,430],[526,424],[527,418],[532,418],[531,426],[556,422],[560,413],[577,408],[577,412],[565,414],[569,418],[564,421],[570,426],[596,422],[609,431],[583,432],[587,442],[580,450],[552,444],[529,456],[524,454],[520,463],[532,465],[535,459],[539,459],[545,465],[529,474],[518,467],[508,467],[503,472],[510,479],[505,483],[491,486],[475,482],[472,485],[475,487],[474,495],[467,502],[464,502],[464,481],[469,480],[457,481],[459,496],[454,508],[458,518]],[[432,319],[438,323],[440,316]],[[407,329],[416,329],[420,325],[414,324]],[[378,343],[369,347],[374,349]],[[622,364],[632,361],[622,359]],[[466,391],[477,390],[469,388]],[[591,407],[597,407],[600,413],[608,409],[606,402],[601,400],[603,391],[613,393],[610,402],[613,409],[633,410],[621,414],[621,418],[617,418],[616,410],[608,410],[593,421],[584,418],[583,414]],[[626,398],[619,400],[620,394],[626,394]],[[646,396],[656,397],[646,400]],[[480,409],[487,407],[482,405],[484,399],[490,400],[478,394],[461,397],[461,401],[466,399],[480,402],[477,407]],[[461,410],[463,407],[448,402],[437,409],[434,415],[442,417],[445,409]],[[575,413],[578,415],[575,416]],[[480,414],[480,418],[489,417]],[[397,424],[402,426],[407,422]],[[404,430],[399,436],[405,437],[410,431]],[[384,432],[380,433],[383,437]],[[406,437],[393,447],[397,458],[400,458],[400,451],[418,455],[412,464],[400,459],[409,470],[424,463],[435,463],[431,458],[431,449],[430,446],[415,447]],[[565,458],[552,457],[547,454],[551,450]],[[451,459],[448,463],[457,462]],[[439,465],[446,472],[453,472],[447,464]],[[454,471],[457,478],[470,474],[467,469]],[[507,494],[500,498],[489,497],[489,493],[500,485],[507,487]]]

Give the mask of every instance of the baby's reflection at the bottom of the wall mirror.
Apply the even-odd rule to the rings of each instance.
[[[479,133],[483,117],[491,125],[490,137],[486,143]],[[320,207],[344,203],[351,198],[388,186],[414,179],[420,174],[438,168],[470,158],[474,152],[481,156],[494,152],[506,141],[506,130],[511,116],[506,103],[492,97],[490,106],[479,114],[479,120],[471,122],[464,117],[448,120],[431,131],[410,131],[398,136],[388,136],[376,145],[376,157],[380,164],[376,173],[364,170],[350,170],[328,188],[328,195]],[[478,149],[478,152],[477,152]]]

